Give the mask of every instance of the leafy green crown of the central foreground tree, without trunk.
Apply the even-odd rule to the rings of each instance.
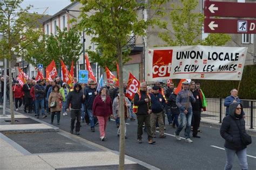
[[[113,69],[116,67],[118,49],[122,49],[123,63],[127,62],[130,53],[127,43],[130,36],[145,35],[145,29],[150,24],[139,18],[137,11],[149,5],[135,0],[79,2],[83,4],[79,28],[85,30],[87,35],[94,35],[91,42],[97,45],[96,51],[87,51],[92,62]],[[154,0],[151,4],[158,9],[157,6],[164,2]]]

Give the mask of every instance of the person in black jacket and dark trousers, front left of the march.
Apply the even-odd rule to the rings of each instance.
[[[71,126],[70,133],[73,133],[73,129],[76,123],[76,134],[79,135],[80,123],[81,123],[81,108],[82,103],[84,102],[85,96],[83,95],[82,86],[79,84],[75,85],[75,90],[69,92],[68,99],[66,100],[66,111],[69,112],[69,105],[71,104]]]

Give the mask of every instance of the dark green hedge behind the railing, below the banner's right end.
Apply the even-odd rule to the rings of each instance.
[[[207,98],[226,98],[232,89],[238,89],[239,81],[234,80],[199,80],[201,89]],[[178,85],[179,80],[173,80]],[[240,99],[256,99],[256,65],[247,65],[242,73],[238,92]]]

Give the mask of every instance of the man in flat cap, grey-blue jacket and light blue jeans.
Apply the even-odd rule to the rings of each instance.
[[[193,142],[190,139],[190,131],[191,131],[191,119],[192,119],[192,105],[191,103],[196,102],[196,99],[193,97],[193,94],[190,90],[188,90],[189,83],[187,81],[182,82],[183,89],[178,93],[176,99],[176,105],[179,107],[180,111],[180,124],[174,133],[177,140],[181,140],[179,137],[180,131],[182,131],[183,127],[185,128],[185,138],[186,142]]]

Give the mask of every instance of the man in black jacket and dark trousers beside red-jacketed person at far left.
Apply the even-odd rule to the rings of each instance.
[[[24,92],[24,99],[25,99],[25,106],[24,106],[24,112],[26,113],[26,108],[29,108],[29,113],[32,113],[32,97],[30,95],[30,89],[31,89],[31,81],[30,79],[26,80],[26,84],[22,87],[22,90]]]

